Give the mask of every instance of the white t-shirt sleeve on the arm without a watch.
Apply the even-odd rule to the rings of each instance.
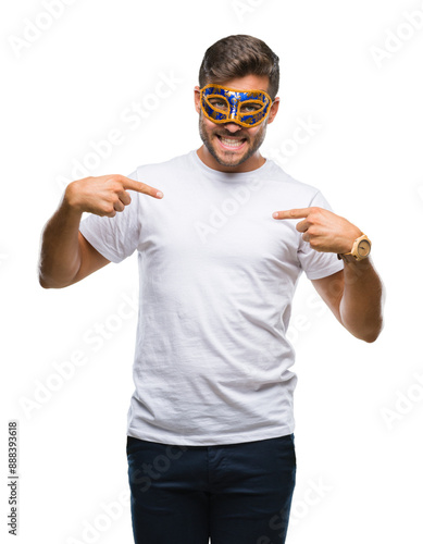
[[[138,181],[137,171],[127,177]],[[89,214],[80,222],[79,232],[91,246],[111,262],[121,262],[138,247],[141,224],[139,195],[127,190],[130,203],[114,218]]]

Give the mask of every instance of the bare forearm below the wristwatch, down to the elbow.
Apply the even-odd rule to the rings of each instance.
[[[354,336],[374,342],[383,327],[384,287],[370,258],[344,263],[340,320]]]

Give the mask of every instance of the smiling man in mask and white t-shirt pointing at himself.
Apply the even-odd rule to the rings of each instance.
[[[382,330],[369,238],[260,154],[278,77],[263,41],[219,40],[195,88],[203,145],[128,177],[71,183],[43,231],[43,287],[138,252],[136,544],[285,542],[297,381],[286,331],[302,271],[351,334],[374,342]]]

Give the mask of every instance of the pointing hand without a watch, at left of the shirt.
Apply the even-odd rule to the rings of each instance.
[[[126,191],[136,190],[154,198],[162,198],[163,194],[145,183],[136,182],[120,174],[84,177],[67,185],[64,202],[73,210],[95,213],[100,217],[113,218],[116,212],[123,211],[130,203],[130,196]]]

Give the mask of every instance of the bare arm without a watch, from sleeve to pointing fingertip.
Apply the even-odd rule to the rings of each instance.
[[[84,212],[109,218],[122,212],[130,203],[126,189],[162,196],[158,189],[122,175],[85,177],[66,187],[59,209],[42,232],[41,287],[66,287],[110,262],[79,233],[79,223]]]

